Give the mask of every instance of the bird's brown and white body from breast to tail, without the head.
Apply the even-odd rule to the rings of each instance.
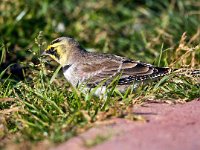
[[[85,84],[88,87],[95,87],[104,82],[106,86],[117,76],[118,85],[131,85],[135,82],[158,79],[169,72],[169,68],[154,67],[111,54],[87,53],[82,59],[69,68],[70,72],[68,70],[68,75],[76,78],[73,85]]]

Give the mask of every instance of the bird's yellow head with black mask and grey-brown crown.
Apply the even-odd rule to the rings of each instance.
[[[59,37],[51,42],[42,55],[48,55],[62,66],[67,65],[70,56],[79,51],[79,43],[69,37]]]

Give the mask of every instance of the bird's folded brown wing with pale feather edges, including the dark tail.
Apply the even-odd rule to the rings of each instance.
[[[81,68],[81,72],[84,73],[84,76],[87,76],[84,79],[85,82],[92,87],[104,80],[106,80],[106,84],[109,84],[117,75],[120,75],[118,84],[124,85],[132,84],[134,81],[157,78],[168,72],[168,68],[153,67],[150,64],[123,57],[121,57],[121,60],[117,58],[83,64]]]

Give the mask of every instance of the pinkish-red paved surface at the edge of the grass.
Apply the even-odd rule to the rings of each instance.
[[[169,105],[146,103],[134,107],[148,121],[112,119],[56,147],[55,150],[198,150],[200,149],[200,101]],[[105,141],[93,147],[97,137]]]

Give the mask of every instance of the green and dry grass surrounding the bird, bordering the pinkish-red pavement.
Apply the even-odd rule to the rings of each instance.
[[[156,66],[183,67],[185,71],[198,69],[198,6],[195,0],[3,1],[0,148],[16,143],[27,147],[46,141],[47,145],[57,144],[113,117],[140,120],[130,108],[145,100],[176,103],[199,98],[199,77],[181,71],[141,85],[133,93],[113,89],[106,101],[91,93],[85,97],[70,87],[58,64],[47,64],[39,57],[47,43],[67,35],[91,51],[115,53]],[[104,137],[89,145],[99,141]]]

